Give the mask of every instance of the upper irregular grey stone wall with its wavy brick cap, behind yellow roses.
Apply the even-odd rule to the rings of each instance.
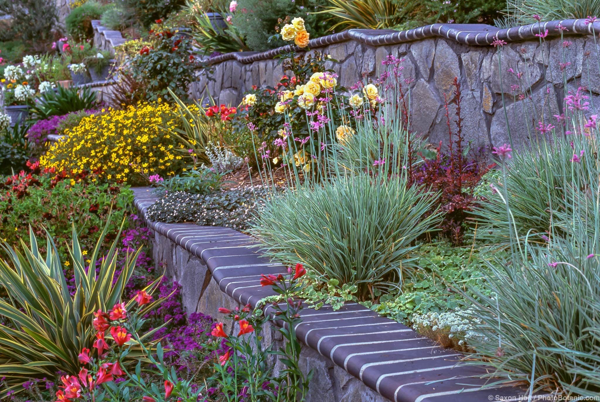
[[[568,30],[561,30],[561,26]],[[544,35],[546,29],[548,37],[542,43],[536,34]],[[600,49],[593,38],[595,32],[600,32],[600,22],[586,24],[585,20],[502,30],[488,25],[435,24],[402,32],[352,29],[311,40],[309,46],[338,61],[328,62],[326,67],[335,70],[340,76],[338,82],[347,88],[363,76],[376,79],[385,70],[381,62],[388,55],[403,58],[403,76],[410,81],[412,127],[428,133],[433,143],[448,140],[444,97],[453,98],[452,81],[458,77],[463,89],[466,139],[479,145],[501,145],[509,142],[502,95],[512,139],[518,144],[535,135],[538,120],[556,122],[553,116],[562,113],[565,85],[561,70],[566,76],[566,89],[576,91],[583,85],[600,94]],[[508,44],[491,46],[494,37]],[[219,103],[236,105],[252,85],[277,83],[284,71],[273,56],[293,48],[218,56],[211,60],[215,67],[213,80],[199,79],[194,83],[193,95],[200,98],[208,92]],[[502,68],[498,64],[500,51]],[[521,79],[517,73],[522,74]],[[528,94],[519,100],[529,88],[531,99]],[[600,98],[595,101],[600,104]],[[524,109],[537,109],[535,122],[527,121]],[[451,117],[454,112],[455,106],[451,105]]]

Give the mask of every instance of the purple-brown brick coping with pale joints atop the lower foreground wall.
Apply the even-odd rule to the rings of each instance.
[[[260,274],[287,275],[287,269],[253,250],[257,242],[250,236],[227,227],[149,221],[146,211],[157,196],[149,187],[133,191],[134,205],[146,224],[202,260],[220,289],[236,302],[254,308],[260,299],[275,295],[271,287],[260,285]],[[274,313],[271,305],[263,310]],[[496,395],[504,400],[527,395],[511,386],[482,389],[493,382],[481,378],[487,374],[485,368],[458,365],[461,353],[443,349],[362,305],[346,303],[336,311],[328,305],[307,308],[301,317],[296,334],[302,343],[391,401],[482,402],[503,400],[494,399]]]

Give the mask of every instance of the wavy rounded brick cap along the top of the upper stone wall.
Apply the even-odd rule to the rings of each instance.
[[[337,34],[326,35],[311,39],[309,48],[329,46],[349,40],[356,40],[368,46],[384,46],[400,44],[425,38],[446,38],[457,43],[470,46],[489,46],[496,38],[510,42],[538,38],[548,30],[548,37],[560,35],[593,35],[600,33],[600,19],[590,22],[586,19],[566,19],[532,23],[529,25],[515,26],[513,28],[499,29],[485,24],[432,24],[405,31],[393,29],[349,29]],[[223,61],[233,60],[250,64],[254,61],[272,59],[277,55],[290,51],[301,52],[303,49],[289,44],[266,52],[233,52],[216,56],[209,60],[209,64],[218,64]]]

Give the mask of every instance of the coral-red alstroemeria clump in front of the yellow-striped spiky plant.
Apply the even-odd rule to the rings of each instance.
[[[145,290],[137,292],[129,303],[117,303],[112,310],[94,313],[92,325],[96,332],[92,349],[84,347],[78,359],[82,368],[76,375],[61,377],[61,385],[56,392],[56,402],[112,401],[128,396],[141,398],[144,402],[169,400],[196,402],[199,392],[194,391],[191,381],[179,380],[175,370],[164,364],[164,350],[158,343],[155,349],[140,337],[146,312],[161,300],[152,301]],[[127,311],[133,308],[133,311]],[[154,329],[156,332],[161,327]],[[142,355],[137,365],[131,366],[127,356]],[[155,381],[161,378],[161,384]]]

